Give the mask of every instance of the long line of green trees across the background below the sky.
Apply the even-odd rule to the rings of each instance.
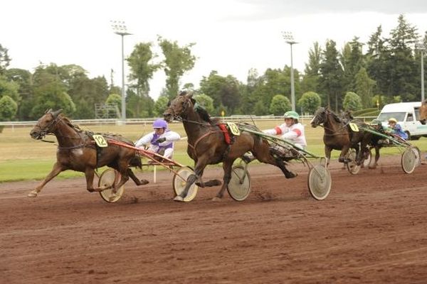
[[[342,50],[334,40],[313,43],[305,70],[293,69],[297,111],[313,113],[317,107],[335,111],[369,109],[390,102],[419,101],[421,94],[421,52],[416,43],[427,46],[427,31],[399,15],[388,36],[378,26],[367,43],[354,37]],[[187,89],[199,104],[214,116],[231,114],[281,115],[290,107],[290,67],[268,68],[263,74],[248,70],[246,82],[233,75],[221,76],[212,70],[194,82],[182,84],[181,77],[197,60],[191,48],[158,36],[162,60],[153,52],[153,43],[138,43],[126,58],[130,67],[126,93],[127,118],[161,116],[169,99]],[[121,89],[105,77],[89,78],[78,65],[39,65],[33,72],[9,68],[7,48],[0,44],[0,121],[34,120],[46,109],[62,108],[74,119],[93,119],[95,104],[117,104]],[[426,69],[426,67],[424,67]],[[166,82],[156,102],[149,97],[149,80],[163,70]]]

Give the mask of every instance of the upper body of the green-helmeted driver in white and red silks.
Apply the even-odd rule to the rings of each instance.
[[[281,138],[284,140],[305,149],[307,141],[305,140],[304,126],[298,122],[300,116],[295,111],[287,111],[284,118],[284,124],[275,126],[274,129],[264,130],[263,132],[268,135],[282,135]]]

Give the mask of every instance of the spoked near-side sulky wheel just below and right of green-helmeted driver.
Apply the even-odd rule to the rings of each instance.
[[[331,174],[324,165],[315,165],[308,173],[308,190],[315,200],[324,200],[332,186]]]

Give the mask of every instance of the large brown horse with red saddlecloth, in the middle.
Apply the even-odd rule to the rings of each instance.
[[[187,153],[195,163],[194,175],[189,176],[183,192],[175,197],[176,201],[183,201],[189,187],[196,181],[201,187],[221,184],[218,180],[210,180],[204,183],[201,177],[206,165],[223,162],[223,185],[216,197],[214,197],[214,200],[221,199],[231,179],[231,167],[234,160],[242,157],[248,151],[251,151],[260,162],[269,163],[280,168],[286,178],[295,178],[296,176],[295,173],[290,172],[285,167],[283,160],[275,158],[270,153],[270,144],[260,136],[242,131],[241,135],[234,136],[233,143],[228,145],[218,121],[211,120],[206,110],[199,107],[196,101],[192,99],[191,94],[181,92],[172,100],[163,115],[166,121],[177,119],[184,124],[188,137]],[[247,125],[246,127],[254,126]]]

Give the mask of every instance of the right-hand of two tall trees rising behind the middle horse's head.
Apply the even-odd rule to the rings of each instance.
[[[166,74],[166,89],[169,99],[176,97],[179,92],[179,80],[186,71],[193,69],[196,57],[191,54],[195,43],[179,46],[176,41],[171,42],[158,36],[157,41],[164,55],[163,70]]]

